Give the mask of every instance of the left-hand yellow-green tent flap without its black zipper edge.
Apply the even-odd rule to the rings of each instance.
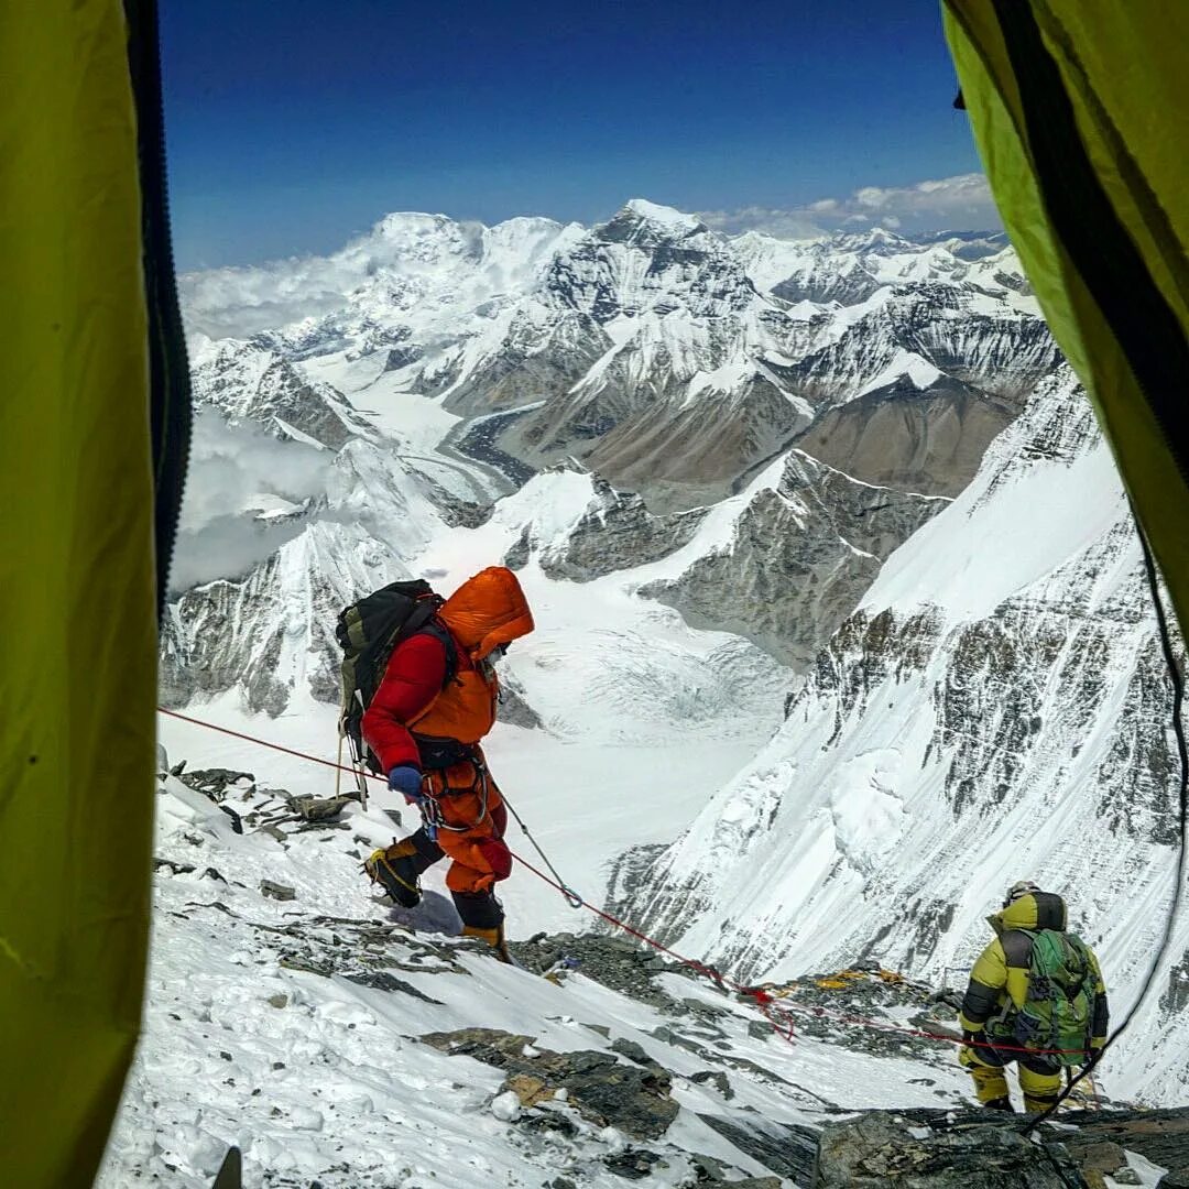
[[[90,1184],[140,1019],[156,580],[118,0],[0,7],[0,1169]]]

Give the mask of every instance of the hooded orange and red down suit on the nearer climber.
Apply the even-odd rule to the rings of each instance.
[[[438,612],[439,623],[403,641],[364,715],[363,731],[385,772],[415,765],[428,817],[438,825],[436,848],[419,831],[405,845],[424,866],[445,853],[452,862],[446,886],[465,897],[490,892],[511,872],[502,838],[508,811],[486,770],[479,741],[496,721],[499,679],[489,656],[533,630],[533,616],[516,575],[491,566],[464,583]],[[449,633],[458,668],[448,684]],[[459,759],[463,744],[466,756]],[[441,766],[443,759],[457,762]],[[419,863],[419,866],[421,866]],[[457,899],[457,897],[455,897]]]

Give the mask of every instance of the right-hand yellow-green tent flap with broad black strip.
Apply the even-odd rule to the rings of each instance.
[[[943,13],[1004,224],[1189,637],[1189,6]]]

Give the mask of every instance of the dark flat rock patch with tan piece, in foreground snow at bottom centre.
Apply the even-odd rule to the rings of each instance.
[[[517,1094],[523,1090],[537,1102],[565,1089],[567,1101],[580,1114],[636,1139],[659,1138],[677,1116],[678,1106],[669,1095],[672,1077],[655,1063],[641,1070],[610,1053],[592,1050],[558,1053],[541,1049],[536,1056],[526,1057],[529,1037],[496,1028],[433,1032],[421,1040],[518,1076],[516,1087],[508,1083],[509,1089],[516,1089]]]

